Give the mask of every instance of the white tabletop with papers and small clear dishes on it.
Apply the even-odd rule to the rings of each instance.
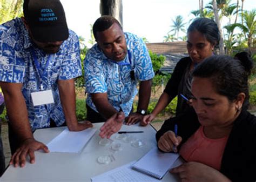
[[[115,133],[111,136],[111,141],[119,143],[122,150],[111,150],[111,144],[102,146],[99,144],[101,138],[99,137],[99,128],[103,123],[95,123],[93,127],[97,129],[94,136],[83,147],[79,153],[61,153],[50,152],[44,153],[41,151],[35,152],[35,164],[26,163],[25,167],[9,166],[4,172],[1,181],[74,181],[84,182],[91,181],[91,178],[98,174],[112,170],[113,168],[125,165],[131,161],[138,160],[144,154],[149,152],[152,147],[156,146],[156,130],[151,125],[139,126],[123,125],[122,131],[144,131],[143,133],[129,133],[133,139],[140,139],[143,145],[134,147],[130,141],[120,139],[120,134]],[[58,136],[66,127],[54,127],[49,129],[39,129],[33,134],[38,141],[48,144],[53,138]],[[97,158],[104,155],[111,155],[111,163],[99,164]],[[178,159],[175,166],[181,164]],[[165,177],[159,181],[180,181],[176,174],[167,172]]]

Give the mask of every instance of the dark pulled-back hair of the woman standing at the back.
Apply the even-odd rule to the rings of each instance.
[[[220,32],[217,24],[209,18],[197,18],[190,26],[188,26],[187,34],[192,31],[199,31],[202,33],[208,42],[215,45],[217,48],[220,41]]]

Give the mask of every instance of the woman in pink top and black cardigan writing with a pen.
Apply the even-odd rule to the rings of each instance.
[[[166,120],[156,136],[160,150],[187,161],[171,170],[181,181],[256,180],[256,117],[246,111],[252,66],[246,54],[212,56],[193,71],[193,111]]]

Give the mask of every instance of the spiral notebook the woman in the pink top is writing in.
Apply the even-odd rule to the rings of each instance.
[[[179,154],[177,153],[160,152],[154,147],[134,163],[132,168],[154,178],[162,179],[178,157]]]

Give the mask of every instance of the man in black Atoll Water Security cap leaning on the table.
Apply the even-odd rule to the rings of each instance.
[[[0,86],[9,118],[10,164],[35,162],[34,151],[49,152],[32,132],[78,123],[74,78],[82,75],[79,41],[66,25],[59,0],[25,0],[24,17],[0,25]]]

